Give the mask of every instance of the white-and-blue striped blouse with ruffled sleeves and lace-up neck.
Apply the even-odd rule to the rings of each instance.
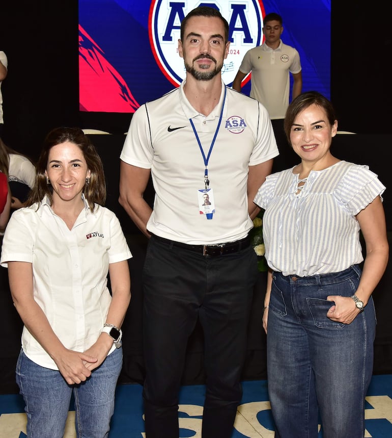
[[[355,218],[385,190],[369,166],[340,161],[312,170],[298,192],[293,168],[267,176],[254,202],[265,209],[268,266],[300,277],[339,272],[363,261]]]

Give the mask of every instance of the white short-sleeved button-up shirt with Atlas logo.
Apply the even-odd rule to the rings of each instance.
[[[3,239],[0,264],[33,264],[34,299],[66,348],[85,351],[98,339],[111,302],[106,286],[110,263],[130,259],[120,222],[104,207],[92,213],[85,201],[70,230],[45,198],[13,213]],[[42,367],[57,366],[23,327],[22,348]],[[113,346],[112,350],[115,348]]]

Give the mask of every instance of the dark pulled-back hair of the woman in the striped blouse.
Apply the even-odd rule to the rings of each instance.
[[[301,93],[299,96],[291,101],[291,104],[286,110],[284,128],[286,138],[290,145],[290,132],[295,118],[302,110],[310,107],[313,104],[317,105],[325,111],[328,122],[331,126],[333,125],[335,120],[337,120],[335,110],[333,109],[331,102],[325,96],[323,96],[318,91],[306,91],[304,93]]]

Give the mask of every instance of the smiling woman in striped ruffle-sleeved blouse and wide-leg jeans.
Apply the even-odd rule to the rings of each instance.
[[[365,433],[376,327],[371,294],[388,260],[385,187],[368,166],[332,156],[337,129],[323,95],[293,99],[285,132],[301,162],[267,176],[254,200],[265,209],[263,325],[279,438],[317,438],[319,414],[324,438]]]

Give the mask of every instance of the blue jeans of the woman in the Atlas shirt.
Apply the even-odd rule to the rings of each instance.
[[[59,371],[37,365],[21,351],[16,382],[26,405],[27,438],[63,437],[72,391],[76,436],[106,438],[122,359],[122,348],[116,349],[85,382],[69,385]]]

